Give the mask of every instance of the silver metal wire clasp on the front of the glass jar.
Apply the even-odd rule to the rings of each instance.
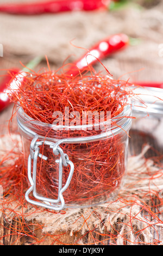
[[[70,185],[72,175],[74,172],[74,164],[68,159],[68,156],[64,154],[64,151],[59,147],[59,144],[62,143],[62,140],[58,141],[57,143],[49,142],[49,141],[37,141],[39,138],[38,135],[35,135],[33,138],[31,144],[30,144],[30,154],[28,157],[28,179],[30,182],[30,187],[27,190],[25,194],[25,198],[27,202],[30,204],[34,204],[37,206],[42,206],[44,208],[48,208],[51,210],[62,210],[65,207],[65,200],[62,195],[62,193],[68,188]],[[37,159],[40,157],[41,159],[47,161],[47,157],[40,154],[40,146],[41,145],[48,145],[50,148],[53,149],[53,154],[54,155],[59,155],[60,154],[60,159],[56,160],[59,164],[59,183],[58,183],[58,199],[52,199],[52,198],[46,198],[46,197],[41,197],[39,194],[36,193],[36,171],[37,171]],[[32,159],[33,159],[33,175],[32,175]],[[64,187],[62,187],[62,169],[63,166],[67,167],[70,165],[70,173],[68,175],[66,184]],[[35,200],[32,200],[29,198],[30,192],[33,192],[33,196],[42,201],[37,202]]]

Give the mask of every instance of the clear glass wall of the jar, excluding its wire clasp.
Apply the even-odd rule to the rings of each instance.
[[[111,127],[111,131],[95,131],[96,140],[83,131],[84,138],[89,142],[62,143],[61,149],[74,164],[74,173],[70,185],[63,193],[66,207],[84,207],[105,202],[115,196],[122,185],[127,167],[128,131],[131,126],[131,109],[128,105],[122,118],[117,119],[118,126]],[[24,161],[28,165],[30,143],[33,136],[22,129],[27,127],[39,135],[39,139],[57,142],[63,138],[78,138],[78,131],[54,131],[52,125],[32,121],[23,109],[18,109],[18,121],[21,124]],[[92,132],[91,132],[92,135]],[[40,153],[47,156],[47,160],[38,158],[36,174],[36,192],[46,198],[58,198],[59,163],[55,162],[59,156],[53,154],[48,145],[40,147]],[[70,166],[63,167],[62,187],[66,184]],[[32,195],[31,195],[32,196]]]

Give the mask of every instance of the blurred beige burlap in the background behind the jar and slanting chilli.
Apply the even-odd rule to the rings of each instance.
[[[0,0],[0,5],[30,2],[49,1]],[[163,1],[119,2],[118,7],[111,5],[110,8],[108,3],[108,8],[93,11],[40,15],[0,13],[0,44],[4,47],[0,68],[21,68],[20,61],[27,64],[34,57],[45,54],[51,67],[59,68],[68,56],[67,62],[72,62],[85,53],[77,47],[89,49],[111,34],[125,33],[137,40],[125,50],[104,59],[106,68],[115,78],[124,75],[124,79],[130,77],[134,81],[163,81]],[[71,45],[71,40],[77,47]],[[137,71],[140,69],[143,70]],[[98,64],[96,70],[104,69]]]

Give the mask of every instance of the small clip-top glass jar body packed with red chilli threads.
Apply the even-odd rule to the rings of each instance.
[[[55,130],[33,120],[22,107],[17,122],[30,187],[29,203],[52,210],[84,208],[106,202],[122,186],[127,167],[131,106],[114,124],[93,132]],[[82,131],[82,133],[81,133]],[[32,193],[33,192],[33,195]]]

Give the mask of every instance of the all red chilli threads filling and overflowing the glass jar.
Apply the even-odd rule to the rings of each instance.
[[[30,120],[46,124],[45,127],[38,122],[32,124],[39,135],[61,139],[94,136],[104,131],[53,130],[55,111],[64,113],[65,107],[68,107],[70,113],[78,111],[80,117],[83,111],[110,111],[111,127],[118,127],[121,118],[132,118],[124,117],[122,113],[130,104],[128,98],[133,95],[133,89],[126,81],[112,80],[109,75],[80,74],[73,77],[45,69],[37,74],[26,73],[21,87],[12,92],[12,101],[17,102],[18,108],[23,108]],[[122,116],[117,119],[119,114]],[[93,121],[96,123],[97,120]],[[128,134],[122,129],[117,135],[102,140],[60,145],[74,164],[70,186],[63,194],[66,205],[104,202],[112,192],[120,188],[126,170],[127,139]],[[30,139],[24,139],[26,175],[30,142]],[[37,193],[57,199],[59,166],[55,160],[58,157],[46,145],[40,148],[40,152],[48,160],[40,159],[37,163]],[[65,185],[69,172],[69,167],[64,167],[62,186]]]

